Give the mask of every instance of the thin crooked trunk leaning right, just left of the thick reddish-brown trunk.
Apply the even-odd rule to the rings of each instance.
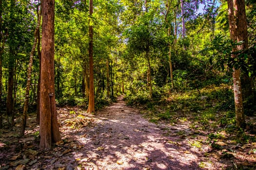
[[[35,33],[34,33],[34,44],[33,44],[32,50],[30,52],[30,58],[29,58],[29,64],[28,64],[28,72],[27,72],[27,76],[28,77],[27,77],[27,85],[26,85],[26,92],[25,92],[22,125],[21,125],[21,128],[20,128],[20,136],[24,135],[25,128],[26,128],[27,112],[28,112],[28,101],[29,101],[29,90],[30,90],[30,84],[31,84],[31,73],[32,73],[32,65],[33,65],[33,57],[34,57],[34,53],[36,51],[36,46],[37,46],[37,42],[38,42],[38,31],[39,31],[39,28],[40,28],[40,22],[41,22],[41,13],[39,13],[39,16],[38,16],[38,24],[37,24],[37,27],[36,27]]]

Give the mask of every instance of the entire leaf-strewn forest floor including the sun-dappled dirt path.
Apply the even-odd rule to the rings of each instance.
[[[234,144],[222,132],[213,147],[210,132],[191,129],[190,121],[151,123],[122,97],[95,115],[78,107],[58,113],[63,141],[52,150],[39,150],[35,115],[22,138],[19,123],[0,129],[0,170],[256,169],[256,143]]]

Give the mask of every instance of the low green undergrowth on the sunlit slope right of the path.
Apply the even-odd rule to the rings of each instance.
[[[195,130],[225,130],[234,143],[248,143],[253,139],[243,129],[236,129],[234,94],[231,85],[208,85],[200,89],[171,91],[154,89],[163,95],[149,100],[149,93],[139,91],[125,96],[127,105],[141,108],[150,122],[178,124],[187,122]],[[154,91],[153,91],[154,94]],[[209,136],[209,140],[217,139]]]

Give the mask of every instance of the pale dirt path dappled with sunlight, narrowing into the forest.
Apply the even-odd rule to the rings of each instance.
[[[97,113],[94,128],[76,136],[84,148],[75,155],[84,167],[99,170],[195,170],[203,154],[191,149],[187,140],[171,131],[187,132],[188,127],[160,126],[142,118],[138,110],[125,106],[122,98]],[[83,137],[81,137],[83,136]]]

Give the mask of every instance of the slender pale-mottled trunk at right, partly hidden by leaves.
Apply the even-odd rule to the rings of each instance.
[[[229,30],[230,38],[236,42],[236,22],[234,15],[234,3],[233,0],[228,0],[228,20],[229,20]],[[237,51],[237,47],[232,49],[233,52]],[[236,57],[233,55],[233,57]],[[243,111],[243,101],[242,101],[242,88],[240,80],[240,69],[233,68],[233,83],[234,83],[234,98],[235,98],[235,111],[236,111],[236,126],[241,127],[244,123],[244,111]]]

